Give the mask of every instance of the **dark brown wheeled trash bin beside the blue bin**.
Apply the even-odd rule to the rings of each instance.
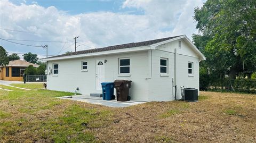
[[[129,89],[131,88],[131,80],[115,80],[116,100],[118,102],[126,102],[131,100]]]

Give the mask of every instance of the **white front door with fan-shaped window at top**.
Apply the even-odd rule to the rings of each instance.
[[[96,89],[102,90],[101,82],[105,81],[104,60],[96,61]]]

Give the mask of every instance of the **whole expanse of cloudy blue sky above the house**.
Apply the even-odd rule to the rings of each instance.
[[[191,39],[197,33],[194,8],[203,4],[201,0],[3,0],[0,3],[0,38],[26,45],[47,44],[49,55],[74,51],[75,36],[79,36],[78,51],[177,35]],[[10,53],[32,52],[41,58],[46,53],[40,47],[5,40],[0,40],[0,45]]]

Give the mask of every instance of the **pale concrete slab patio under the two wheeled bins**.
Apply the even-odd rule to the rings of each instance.
[[[79,102],[86,102],[91,104],[98,104],[98,105],[104,105],[108,107],[128,107],[132,105],[142,104],[146,102],[142,101],[127,101],[127,102],[117,102],[117,100],[103,100],[102,97],[92,97],[90,95],[74,95],[74,96],[63,96],[63,97],[57,97],[61,99],[69,99],[69,100],[75,100]]]

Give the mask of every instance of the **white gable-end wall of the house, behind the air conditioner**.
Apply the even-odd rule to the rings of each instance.
[[[152,51],[152,78],[149,79],[149,100],[174,100],[174,49],[177,48],[177,98],[181,98],[181,86],[193,87],[199,90],[199,58],[185,41],[178,40],[160,45]],[[160,59],[168,58],[167,75],[160,73]],[[193,62],[193,76],[188,75],[188,62]],[[198,92],[199,95],[199,92]]]

